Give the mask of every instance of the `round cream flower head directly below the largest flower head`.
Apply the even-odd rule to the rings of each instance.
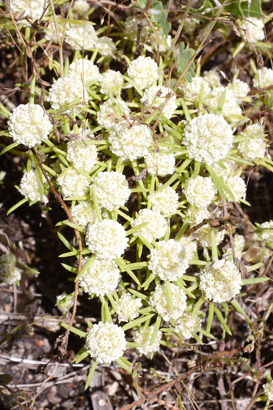
[[[198,208],[206,208],[213,200],[217,189],[212,178],[198,175],[188,178],[185,182],[184,194],[187,201]]]

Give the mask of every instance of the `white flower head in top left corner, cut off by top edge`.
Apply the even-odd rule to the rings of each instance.
[[[12,13],[18,12],[19,16],[25,11],[24,17],[27,15],[31,16],[32,18],[30,18],[30,21],[32,23],[34,23],[35,20],[38,20],[44,12],[45,0],[10,0],[8,4],[9,3]],[[47,14],[47,12],[48,9],[45,14]],[[22,24],[23,27],[30,26],[30,23],[27,22],[27,20],[19,20],[18,23]]]

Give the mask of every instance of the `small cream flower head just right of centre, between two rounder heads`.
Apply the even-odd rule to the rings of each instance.
[[[153,211],[162,214],[175,214],[178,208],[179,195],[171,187],[166,187],[162,191],[155,191],[148,196],[151,199]]]

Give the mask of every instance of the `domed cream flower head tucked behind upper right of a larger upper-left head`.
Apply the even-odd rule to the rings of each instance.
[[[90,81],[100,81],[101,75],[99,68],[93,63],[93,61],[86,58],[80,58],[70,64],[68,70],[68,76],[71,78],[81,79],[83,83],[89,83]]]

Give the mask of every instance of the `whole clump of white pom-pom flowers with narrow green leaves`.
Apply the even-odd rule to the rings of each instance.
[[[21,11],[17,3],[10,7]],[[53,20],[50,7],[47,12]],[[156,13],[157,30],[144,24],[140,33],[139,19],[129,16],[116,38],[117,27],[111,32],[111,25],[103,31],[90,24],[92,12],[85,0],[74,2],[76,19],[64,34],[69,54],[65,64],[50,62],[48,91],[33,75],[29,102],[1,111],[12,142],[5,152],[16,148],[28,157],[17,187],[23,202],[39,201],[48,211],[51,190],[68,216],[57,229],[75,229],[74,241],[59,232],[69,250],[62,257],[76,257],[64,264],[76,283],[70,300],[84,292],[90,305],[94,300],[101,307],[87,333],[72,326],[74,317],[72,327],[61,323],[86,338],[77,360],[93,361],[87,386],[98,363],[116,361],[132,373],[130,355],[124,356],[129,348],[152,358],[160,346],[211,340],[214,318],[223,338],[231,335],[232,310],[251,327],[236,298],[242,286],[267,280],[254,272],[273,250],[273,222],[248,229],[245,240],[228,204],[249,205],[247,167],[273,170],[266,120],[255,117],[257,90],[273,84],[272,70],[256,70],[257,93],[237,75],[223,85],[217,71],[203,72],[201,65],[197,75],[189,66],[177,80],[183,71],[177,55],[189,51],[181,43],[171,49],[173,32],[157,26]],[[247,23],[244,30],[250,32]],[[258,31],[250,34],[253,42],[264,38]],[[38,44],[46,40],[54,50],[47,34]],[[20,279],[14,256],[1,256],[0,264],[2,281]],[[58,298],[62,313],[73,305],[67,301],[66,294]]]

